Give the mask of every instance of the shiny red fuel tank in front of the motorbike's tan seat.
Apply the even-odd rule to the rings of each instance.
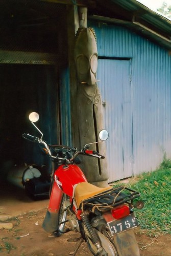
[[[87,181],[87,179],[77,165],[62,164],[55,171],[55,182],[69,197],[73,195],[74,185],[85,181]]]

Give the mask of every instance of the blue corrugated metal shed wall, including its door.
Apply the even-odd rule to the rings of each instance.
[[[110,134],[109,181],[154,170],[164,153],[171,157],[171,56],[125,28],[90,26],[97,36],[97,80],[101,80],[105,125]],[[122,61],[128,61],[129,67]],[[124,92],[130,94],[129,99],[125,100]]]

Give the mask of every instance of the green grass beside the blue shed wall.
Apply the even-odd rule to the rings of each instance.
[[[163,158],[159,169],[143,173],[129,184],[124,184],[140,192],[138,200],[145,205],[134,209],[141,229],[151,233],[171,233],[171,160]]]

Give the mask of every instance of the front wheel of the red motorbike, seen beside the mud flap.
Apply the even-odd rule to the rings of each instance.
[[[65,230],[65,223],[60,224],[64,221],[66,221],[66,217],[67,217],[67,210],[66,210],[66,200],[67,200],[67,196],[66,194],[63,194],[62,196],[62,200],[61,200],[61,204],[60,204],[60,209],[59,209],[59,216],[58,216],[58,220],[57,220],[57,226],[58,229],[54,232],[56,237],[60,237]]]

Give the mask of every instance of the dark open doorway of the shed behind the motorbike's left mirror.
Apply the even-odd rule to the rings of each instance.
[[[0,65],[0,79],[0,175],[6,178],[16,164],[49,164],[21,134],[35,133],[28,114],[36,111],[44,139],[50,144],[60,141],[58,82],[55,67],[50,65]]]

